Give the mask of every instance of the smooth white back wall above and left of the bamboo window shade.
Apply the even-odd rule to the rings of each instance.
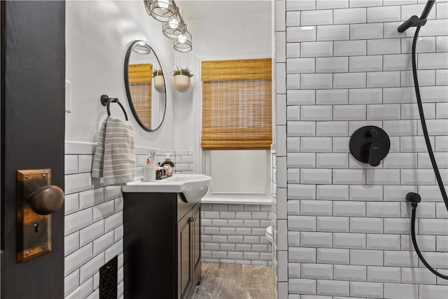
[[[257,6],[262,14],[257,14]],[[179,1],[185,11],[188,31],[193,35],[193,50],[188,64],[193,69],[193,88],[186,94],[175,92],[174,122],[176,149],[193,149],[200,142],[199,58],[214,60],[237,57],[270,57],[272,51],[269,1]],[[250,11],[255,9],[255,11]],[[244,12],[249,13],[244,13]],[[183,54],[183,60],[186,55]]]

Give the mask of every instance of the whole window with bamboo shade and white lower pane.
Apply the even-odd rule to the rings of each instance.
[[[202,138],[211,195],[270,194],[272,60],[203,61]]]

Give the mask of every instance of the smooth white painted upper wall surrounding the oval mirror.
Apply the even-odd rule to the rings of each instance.
[[[124,86],[125,53],[134,40],[147,41],[165,74],[174,67],[172,40],[162,22],[146,13],[144,1],[67,1],[66,80],[71,81],[72,112],[66,113],[66,141],[96,142],[106,107],[101,95],[118,97],[134,125],[136,146],[174,148],[171,76],[167,76],[167,112],[159,130],[146,132],[134,120]],[[111,112],[123,116],[118,105]]]

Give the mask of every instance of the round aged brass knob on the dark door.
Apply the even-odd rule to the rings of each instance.
[[[29,204],[37,214],[52,214],[64,204],[64,191],[55,185],[44,186],[29,195]]]

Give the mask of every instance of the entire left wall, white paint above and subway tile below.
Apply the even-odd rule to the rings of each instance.
[[[159,130],[146,132],[134,120],[124,86],[125,53],[132,41],[147,41],[166,74],[174,66],[172,41],[162,23],[138,1],[66,1],[66,80],[71,81],[71,113],[66,113],[65,137],[65,298],[97,298],[99,267],[118,255],[118,294],[123,298],[123,197],[120,186],[106,186],[91,177],[94,143],[106,118],[103,94],[118,97],[134,125],[136,176],[150,148],[174,150],[172,80],[168,75],[167,112]],[[62,100],[62,99],[61,99]],[[117,104],[112,113],[123,117]],[[163,149],[163,150],[162,150]],[[176,162],[193,160],[176,152]],[[178,164],[188,171],[187,162]]]

